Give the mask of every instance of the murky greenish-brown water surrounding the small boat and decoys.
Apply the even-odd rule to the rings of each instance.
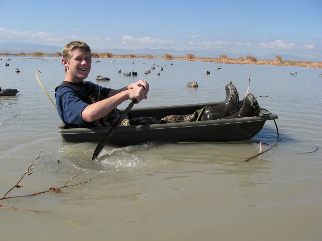
[[[62,142],[57,134],[61,120],[35,77],[40,70],[38,77],[54,101],[54,88],[65,75],[60,58],[10,58],[0,60],[0,87],[20,92],[0,96],[0,123],[4,121],[0,125],[1,196],[40,152],[33,174],[26,175],[19,183],[23,187],[7,197],[61,187],[76,174],[69,184],[91,181],[63,188],[61,193],[0,201],[5,207],[44,211],[0,209],[3,239],[321,238],[321,69],[221,64],[222,68],[215,70],[216,63],[139,58],[95,63],[93,59],[88,80],[94,83],[120,88],[139,79],[148,81],[148,99],[135,107],[223,101],[229,81],[243,98],[251,76],[249,93],[266,96],[257,100],[261,108],[278,115],[282,139],[260,158],[232,166],[225,165],[258,153],[257,144],[107,145],[101,152],[106,156],[96,162],[91,161],[95,143]],[[10,66],[5,67],[5,62]],[[152,62],[159,67],[152,70]],[[17,67],[20,73],[14,72]],[[123,76],[119,69],[136,71],[138,76]],[[149,69],[151,73],[145,75]],[[206,70],[211,74],[206,75]],[[298,72],[298,76],[290,76],[290,72]],[[95,81],[97,75],[111,79]],[[191,81],[199,87],[187,87]],[[274,122],[267,121],[254,139],[274,143]],[[297,154],[303,152],[312,153]]]

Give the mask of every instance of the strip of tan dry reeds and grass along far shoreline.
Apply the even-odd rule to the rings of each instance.
[[[43,52],[33,52],[31,54],[25,54],[21,52],[20,54],[10,54],[10,53],[0,53],[0,56],[25,56],[25,57],[62,57],[61,52],[56,54],[44,54]],[[228,58],[227,55],[219,55],[218,58],[196,58],[194,54],[187,54],[185,57],[174,57],[171,54],[165,54],[162,57],[145,55],[137,56],[134,54],[123,54],[114,55],[112,53],[96,53],[91,52],[92,58],[157,58],[157,59],[179,59],[187,61],[201,61],[201,62],[213,62],[213,63],[223,63],[223,64],[253,64],[253,65],[276,65],[276,66],[299,66],[299,67],[310,67],[310,68],[322,68],[322,62],[311,62],[311,61],[291,61],[283,60],[279,55],[276,55],[275,60],[258,60],[253,56],[243,56],[237,58]]]

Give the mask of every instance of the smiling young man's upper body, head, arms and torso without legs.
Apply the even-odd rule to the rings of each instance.
[[[121,112],[116,108],[126,100],[137,103],[147,98],[149,84],[139,80],[118,90],[84,81],[90,73],[90,47],[72,41],[63,49],[62,64],[66,77],[55,89],[57,111],[69,127],[101,127],[112,125]],[[122,122],[128,125],[128,119]]]

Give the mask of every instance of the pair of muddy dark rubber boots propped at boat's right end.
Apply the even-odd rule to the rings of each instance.
[[[200,121],[259,116],[260,106],[253,94],[248,94],[239,104],[238,92],[232,81],[225,88],[225,102],[206,108],[201,115]],[[200,113],[201,110],[197,112]]]

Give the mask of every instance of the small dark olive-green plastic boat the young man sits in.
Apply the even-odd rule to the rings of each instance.
[[[128,117],[129,119],[132,119],[140,116],[152,116],[160,120],[171,114],[191,114],[207,105],[215,106],[221,103],[223,102],[134,108],[129,112]],[[277,119],[276,114],[261,109],[260,115],[253,117],[119,126],[109,139],[109,143],[118,146],[128,146],[152,140],[162,142],[249,140],[260,132],[265,121],[275,119]],[[62,125],[61,128],[63,129],[59,129],[58,134],[60,134],[62,140],[66,142],[99,142],[110,129],[110,127],[68,129],[65,125]]]

